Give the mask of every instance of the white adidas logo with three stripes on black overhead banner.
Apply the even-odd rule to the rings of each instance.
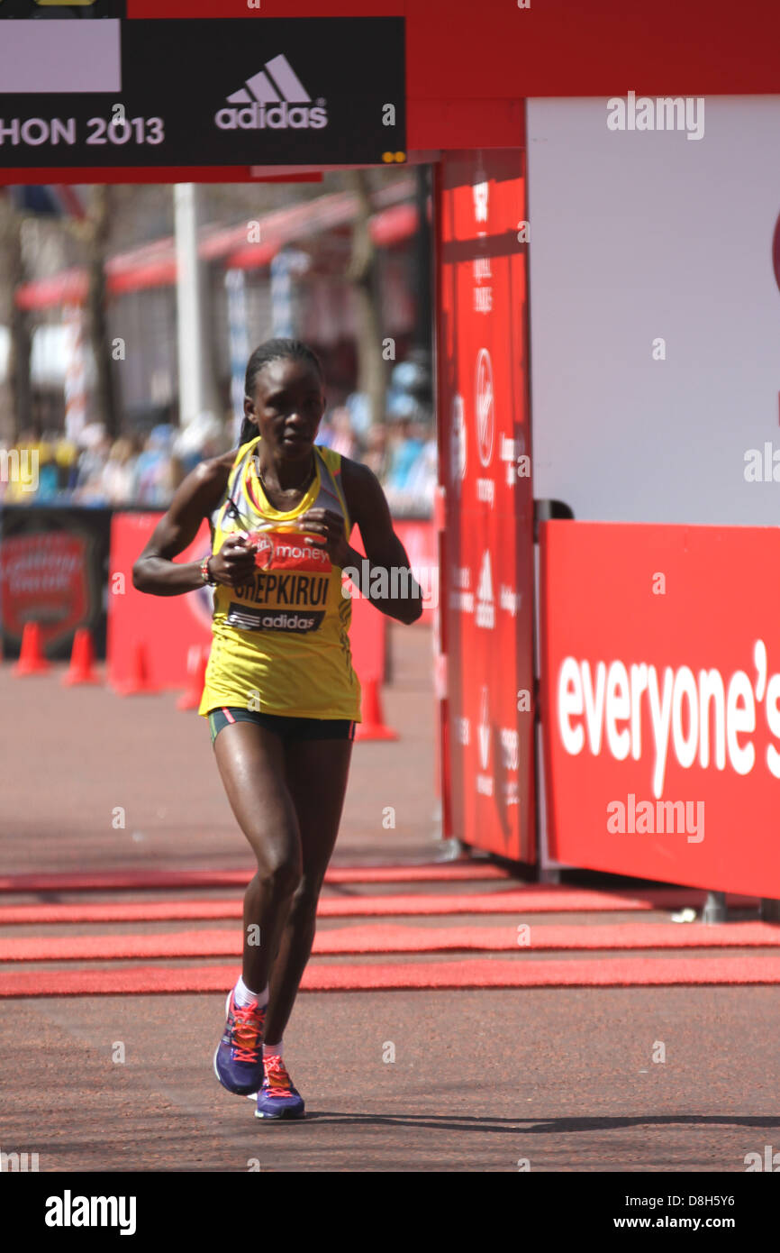
[[[229,108],[219,109],[215,123],[220,130],[284,130],[328,125],[328,114],[312,98],[289,64],[279,54],[247,79],[244,86],[228,96]]]

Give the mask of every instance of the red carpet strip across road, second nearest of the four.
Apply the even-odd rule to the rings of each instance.
[[[314,954],[547,952],[556,950],[747,949],[779,947],[780,926],[769,922],[701,923],[623,922],[612,926],[536,926],[528,945],[503,927],[404,927],[367,925],[321,931]],[[240,930],[177,931],[163,935],[30,936],[0,938],[0,961],[124,961],[150,957],[239,957]]]

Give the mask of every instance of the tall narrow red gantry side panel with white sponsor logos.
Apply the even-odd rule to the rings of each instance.
[[[446,833],[531,862],[533,494],[523,153],[444,157],[438,214]]]

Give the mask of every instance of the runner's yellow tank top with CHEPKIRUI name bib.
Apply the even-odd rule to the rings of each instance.
[[[252,535],[260,549],[253,576],[214,589],[213,643],[198,713],[240,705],[288,718],[361,720],[361,684],[352,668],[352,601],[342,570],[317,544],[302,541],[297,519],[331,509],[352,523],[341,484],[341,454],[314,445],[317,474],[295,509],[267,499],[254,464],[262,436],[244,444],[225,494],[209,519],[212,551],[225,536]]]

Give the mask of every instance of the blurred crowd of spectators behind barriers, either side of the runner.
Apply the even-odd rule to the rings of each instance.
[[[383,422],[371,424],[366,396],[354,392],[326,412],[317,436],[317,444],[371,466],[399,517],[431,516],[437,479],[431,406],[416,398],[414,378],[414,366],[393,370]],[[220,422],[210,413],[184,427],[160,424],[115,440],[99,422],[85,426],[78,440],[31,429],[13,450],[0,449],[0,467],[13,464],[14,452],[23,467],[18,475],[0,474],[0,502],[167,509],[190,470],[234,445],[232,419]]]

